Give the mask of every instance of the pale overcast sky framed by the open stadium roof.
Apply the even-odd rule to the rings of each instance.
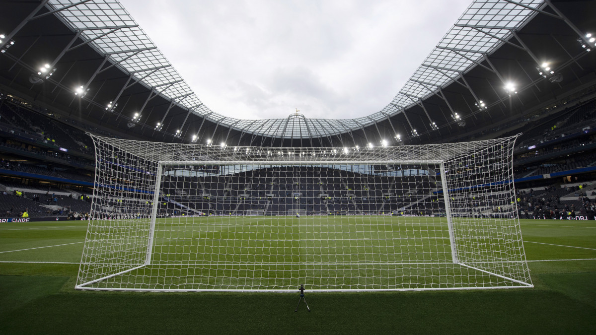
[[[395,97],[471,0],[120,0],[207,107],[352,119]]]

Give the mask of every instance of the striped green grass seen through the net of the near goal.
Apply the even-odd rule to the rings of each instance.
[[[483,227],[486,222],[454,221],[462,231],[458,238],[460,260],[474,268],[454,264],[446,218],[162,218],[156,222],[151,263],[140,268],[147,254],[148,220],[96,221],[91,231],[98,235],[90,234],[89,239],[100,239],[89,244],[85,258],[89,264],[83,267],[81,283],[122,271],[127,272],[85,287],[295,291],[305,284],[308,290],[407,290],[529,283],[527,268],[519,262],[522,258],[511,256],[522,255],[515,250],[520,244],[504,243],[519,238],[514,221],[494,220],[490,230]],[[131,225],[135,227],[131,229]],[[495,235],[501,240],[488,238]],[[105,241],[106,237],[110,241]],[[484,243],[491,244],[488,251]],[[482,252],[477,251],[479,244]],[[101,256],[96,258],[95,253]],[[491,262],[503,258],[513,262]],[[128,271],[131,268],[135,269]]]

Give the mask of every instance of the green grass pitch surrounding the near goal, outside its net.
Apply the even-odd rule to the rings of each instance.
[[[596,332],[594,221],[521,221],[534,289],[307,290],[310,313],[297,291],[75,290],[86,224],[0,224],[0,333]]]

